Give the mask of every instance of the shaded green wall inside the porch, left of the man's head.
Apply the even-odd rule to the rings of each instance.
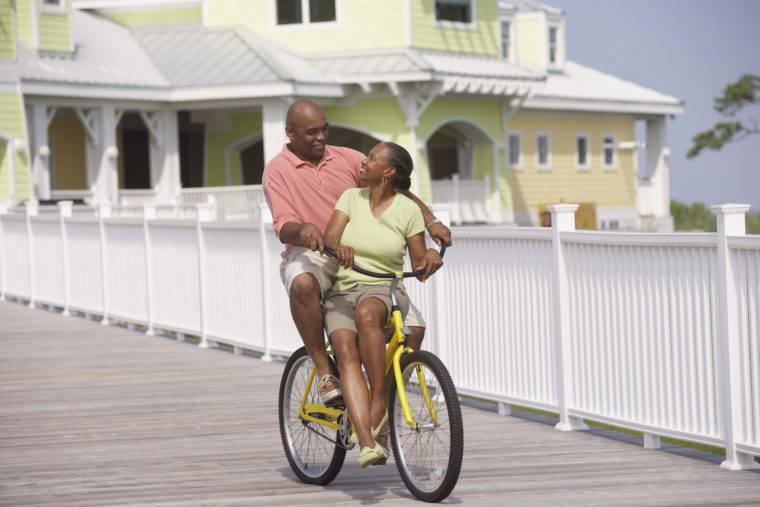
[[[231,148],[246,139],[261,135],[261,125],[261,113],[239,113],[232,115],[228,130],[210,131],[206,134],[206,186],[243,184],[240,160]],[[226,181],[227,164],[229,182]]]

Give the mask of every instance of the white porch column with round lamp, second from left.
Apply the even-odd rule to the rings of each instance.
[[[116,147],[116,127],[118,118],[113,106],[100,109],[100,143],[95,150],[95,174],[91,182],[93,204],[119,202],[119,150]]]

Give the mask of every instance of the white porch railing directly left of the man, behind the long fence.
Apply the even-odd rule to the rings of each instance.
[[[215,206],[215,220],[259,221],[259,204],[264,202],[261,185],[238,185],[233,187],[200,187],[180,190],[180,204],[211,202]]]

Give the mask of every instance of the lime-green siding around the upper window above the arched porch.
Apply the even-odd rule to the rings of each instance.
[[[475,0],[474,27],[436,22],[433,0],[412,2],[412,46],[439,51],[499,56],[499,24],[495,0]]]

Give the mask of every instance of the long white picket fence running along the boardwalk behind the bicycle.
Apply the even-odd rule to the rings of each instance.
[[[282,245],[262,222],[27,213],[0,215],[0,295],[287,355],[300,345],[278,275]],[[446,268],[407,284],[425,347],[463,394],[760,455],[760,237],[747,207],[717,208],[719,232],[455,228]]]

